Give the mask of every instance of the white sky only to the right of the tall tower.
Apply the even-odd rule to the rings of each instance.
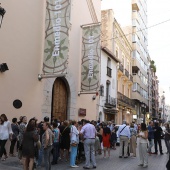
[[[148,0],[148,50],[155,61],[160,90],[165,91],[165,103],[170,105],[170,1]],[[160,94],[161,95],[161,94]]]

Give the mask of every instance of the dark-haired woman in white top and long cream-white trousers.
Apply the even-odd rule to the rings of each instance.
[[[145,123],[141,123],[141,131],[138,135],[139,138],[139,157],[140,164],[146,168],[148,166],[148,154],[147,154],[147,143],[148,143],[148,131]]]

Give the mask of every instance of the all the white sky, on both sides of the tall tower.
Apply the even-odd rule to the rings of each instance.
[[[169,20],[148,29],[148,51],[157,67],[156,75],[159,80],[160,96],[164,91],[165,103],[170,105],[170,0],[146,1],[148,27]],[[130,17],[127,15],[127,11],[130,11],[128,4],[131,3],[131,0],[102,0],[101,2],[102,9],[114,10],[114,16],[122,27],[131,23]]]

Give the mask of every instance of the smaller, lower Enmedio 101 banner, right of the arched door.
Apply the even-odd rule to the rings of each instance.
[[[97,91],[100,86],[100,34],[100,25],[82,27],[82,91]]]

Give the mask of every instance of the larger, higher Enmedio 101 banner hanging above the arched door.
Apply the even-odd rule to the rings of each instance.
[[[43,72],[66,73],[71,0],[47,0]]]

